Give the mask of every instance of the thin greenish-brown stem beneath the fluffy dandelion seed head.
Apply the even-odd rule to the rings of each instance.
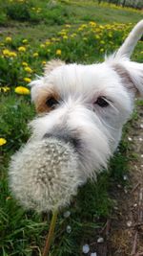
[[[50,230],[49,230],[49,233],[48,233],[48,236],[47,236],[47,239],[46,239],[46,244],[45,244],[42,256],[48,256],[49,255],[51,241],[52,241],[52,238],[53,238],[54,227],[55,227],[55,223],[56,223],[56,220],[57,220],[57,213],[58,213],[57,210],[54,210],[52,212]]]

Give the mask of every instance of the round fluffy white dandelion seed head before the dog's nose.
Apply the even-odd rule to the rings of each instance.
[[[83,183],[70,144],[46,138],[29,142],[10,162],[10,189],[28,209],[52,211],[70,203]]]

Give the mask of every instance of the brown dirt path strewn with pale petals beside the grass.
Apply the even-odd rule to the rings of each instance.
[[[93,256],[143,255],[143,106],[137,107],[137,113],[137,121],[133,121],[128,133],[129,154],[135,156],[129,163],[129,175],[125,176],[130,185],[113,188],[116,204],[112,218],[99,231],[101,243],[91,244]]]

